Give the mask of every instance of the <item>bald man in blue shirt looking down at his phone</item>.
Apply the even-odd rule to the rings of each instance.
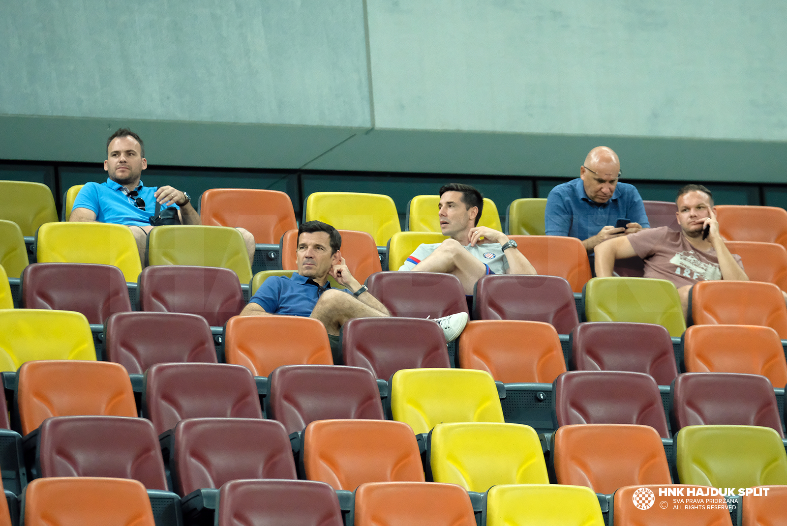
[[[648,216],[634,185],[618,182],[620,160],[607,146],[588,153],[579,168],[579,178],[558,185],[546,201],[545,226],[548,236],[577,237],[589,253],[601,241],[648,228]],[[629,219],[615,228],[617,219]]]

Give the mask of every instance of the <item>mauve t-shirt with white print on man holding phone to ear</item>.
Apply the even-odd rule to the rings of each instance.
[[[634,252],[645,260],[645,278],[667,279],[675,287],[694,285],[697,281],[722,279],[719,257],[713,248],[702,252],[694,248],[681,232],[669,226],[646,228],[626,236]],[[743,268],[741,256],[733,254]]]

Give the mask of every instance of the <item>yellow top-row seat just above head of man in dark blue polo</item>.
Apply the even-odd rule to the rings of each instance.
[[[384,247],[401,232],[393,199],[380,193],[315,192],[306,199],[305,221],[322,221],[337,230],[360,230]]]

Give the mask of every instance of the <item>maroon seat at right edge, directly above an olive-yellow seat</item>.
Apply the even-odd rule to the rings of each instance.
[[[785,437],[774,388],[759,374],[683,373],[670,392],[676,432],[687,425],[762,425]]]

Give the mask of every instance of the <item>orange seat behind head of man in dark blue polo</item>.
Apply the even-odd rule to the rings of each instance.
[[[366,232],[339,230],[342,235],[342,257],[353,278],[359,283],[366,281],[370,274],[382,270],[375,240]],[[284,270],[297,270],[297,229],[287,230],[282,236],[279,253],[282,255]]]

